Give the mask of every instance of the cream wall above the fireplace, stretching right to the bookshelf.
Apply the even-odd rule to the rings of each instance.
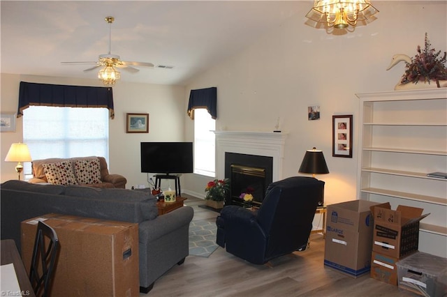
[[[305,24],[303,13],[265,33],[256,43],[191,80],[189,90],[217,86],[217,130],[288,132],[284,177],[298,175],[305,151],[323,150],[330,174],[328,204],[356,199],[358,109],[355,93],[392,91],[404,64],[386,71],[393,54],[417,54],[425,32],[432,48],[447,50],[446,1],[374,1],[377,20],[352,33],[328,34]],[[321,119],[307,120],[307,107],[319,105]],[[353,114],[353,158],[332,157],[332,115]],[[186,139],[193,123],[185,118]],[[221,177],[221,176],[219,176]],[[211,178],[186,176],[185,190],[203,195]]]

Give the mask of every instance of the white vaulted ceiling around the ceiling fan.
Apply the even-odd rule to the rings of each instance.
[[[111,53],[173,69],[124,70],[122,80],[186,84],[313,1],[1,1],[1,73],[96,78],[89,65]],[[304,21],[303,21],[304,22]]]

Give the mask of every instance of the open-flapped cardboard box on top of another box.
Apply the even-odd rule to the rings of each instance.
[[[423,215],[422,208],[403,205],[393,211],[389,203],[371,210],[374,213],[374,252],[399,259],[418,250],[419,222],[430,213]]]

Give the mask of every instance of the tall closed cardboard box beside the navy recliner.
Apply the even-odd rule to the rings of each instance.
[[[351,277],[371,269],[373,220],[376,202],[355,200],[330,204],[326,223],[324,265]]]

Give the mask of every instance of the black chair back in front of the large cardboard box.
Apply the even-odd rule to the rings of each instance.
[[[57,263],[59,239],[57,234],[43,222],[38,222],[33,257],[29,269],[29,280],[36,296],[50,296],[50,285]]]

